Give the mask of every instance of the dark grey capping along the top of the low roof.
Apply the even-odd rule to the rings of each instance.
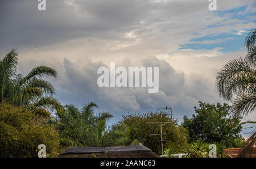
[[[127,153],[152,151],[143,145],[117,146],[117,147],[69,147],[61,154],[86,154],[86,153]]]

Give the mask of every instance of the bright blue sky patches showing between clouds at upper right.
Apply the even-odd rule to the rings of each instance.
[[[256,8],[255,4],[254,7]],[[246,10],[246,6],[236,7],[231,10],[217,10],[214,13],[216,16],[224,17],[226,15],[231,15],[229,18],[240,20],[241,23],[249,23],[255,22],[255,18],[251,18],[251,16],[256,16],[256,12],[249,11],[244,12]],[[217,28],[222,24],[222,22],[215,23],[213,25],[208,26],[207,28]],[[240,32],[242,31],[242,32]],[[197,37],[195,39],[191,39],[190,43],[183,44],[180,46],[180,49],[205,49],[212,50],[214,48],[220,48],[221,52],[236,52],[237,50],[241,50],[244,47],[245,38],[247,33],[250,31],[249,29],[242,29],[240,31],[230,31],[225,33],[218,33],[207,35],[203,37]],[[202,41],[212,41],[212,43],[204,43]]]

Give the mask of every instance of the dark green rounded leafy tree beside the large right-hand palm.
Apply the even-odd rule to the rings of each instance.
[[[240,138],[242,126],[238,117],[229,117],[229,105],[220,103],[207,104],[199,102],[195,107],[196,115],[192,119],[184,116],[182,125],[189,133],[188,141],[223,142],[229,147],[236,146],[234,140]]]

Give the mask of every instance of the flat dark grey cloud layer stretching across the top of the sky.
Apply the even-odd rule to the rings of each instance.
[[[46,11],[39,11],[38,3],[1,1],[0,49],[39,48],[80,37],[120,40],[123,33],[130,31],[143,37],[166,39],[169,43],[173,43],[170,40],[173,37],[179,43],[188,40],[184,35],[221,21],[221,18],[213,19],[209,2],[205,0],[56,0],[47,1]],[[249,0],[218,1],[218,9],[251,3]],[[184,36],[183,39],[177,38],[178,35]]]

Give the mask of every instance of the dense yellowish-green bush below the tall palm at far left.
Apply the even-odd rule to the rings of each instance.
[[[46,145],[47,157],[56,157],[58,134],[50,124],[38,124],[26,108],[0,105],[0,157],[38,157],[38,145]]]

